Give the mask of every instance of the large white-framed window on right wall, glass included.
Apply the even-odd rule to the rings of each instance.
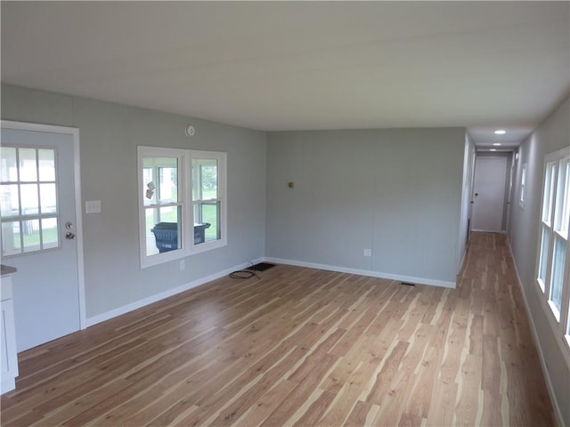
[[[566,148],[545,158],[536,281],[550,323],[570,352],[569,222],[570,149]]]

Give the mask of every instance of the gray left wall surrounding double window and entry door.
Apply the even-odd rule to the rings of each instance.
[[[265,133],[148,109],[2,85],[2,118],[79,128],[87,318],[260,258],[265,252]],[[196,134],[188,138],[191,123]],[[228,245],[140,269],[137,145],[228,153]]]

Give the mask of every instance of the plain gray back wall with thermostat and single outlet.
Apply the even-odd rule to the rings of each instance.
[[[463,128],[269,133],[265,254],[455,284],[464,149]]]

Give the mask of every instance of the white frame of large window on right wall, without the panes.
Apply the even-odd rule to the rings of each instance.
[[[560,214],[564,212],[565,208],[567,209],[567,205],[570,203],[570,196],[568,195],[569,189],[566,188],[567,181],[561,179],[566,176],[564,175],[563,168],[567,167],[568,162],[570,162],[570,147],[559,149],[544,158],[541,197],[542,207],[534,277],[536,278],[535,289],[542,302],[542,308],[545,310],[550,327],[556,335],[556,341],[563,348],[566,362],[570,365],[570,334],[567,334],[570,324],[570,285],[568,284],[570,277],[570,241],[568,236],[570,218],[564,219],[565,222],[567,222],[566,224],[562,224],[560,218]],[[561,204],[564,205],[560,206]],[[542,259],[543,230],[546,230],[549,235],[549,245],[545,259]],[[554,264],[555,239],[563,239],[566,241],[566,258],[562,278],[560,310],[558,310],[556,304],[551,301],[551,278]],[[545,266],[545,281],[541,278],[543,262],[547,262]]]

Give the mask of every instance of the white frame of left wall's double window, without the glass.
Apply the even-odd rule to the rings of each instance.
[[[146,218],[142,189],[143,181],[143,157],[177,157],[178,158],[178,203],[181,205],[182,239],[181,247],[162,254],[146,254]],[[218,198],[220,201],[220,238],[203,243],[194,243],[194,214],[192,202],[192,182],[191,167],[192,159],[216,159],[218,165]],[[137,175],[138,175],[138,201],[139,201],[139,254],[141,268],[159,265],[164,262],[172,262],[191,256],[201,254],[227,245],[227,153],[221,151],[203,151],[192,149],[170,149],[161,147],[137,147]],[[192,226],[189,226],[192,224]]]

